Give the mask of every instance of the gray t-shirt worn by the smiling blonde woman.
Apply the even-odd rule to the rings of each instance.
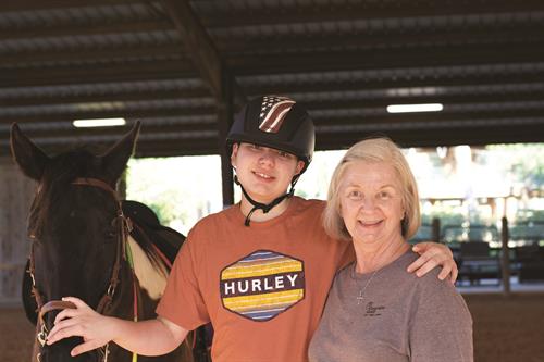
[[[355,263],[339,271],[310,344],[310,361],[473,361],[465,300],[450,283],[438,280],[440,269],[421,278],[407,273],[417,257],[406,252],[370,283],[372,273],[355,273]]]

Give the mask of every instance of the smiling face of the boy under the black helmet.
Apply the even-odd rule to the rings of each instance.
[[[304,162],[292,153],[252,143],[233,145],[231,163],[249,196],[269,203],[284,195]]]

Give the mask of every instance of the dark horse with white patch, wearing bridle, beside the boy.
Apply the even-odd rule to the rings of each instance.
[[[83,342],[79,337],[45,344],[59,311],[74,307],[61,301],[64,296],[78,297],[104,315],[134,321],[156,316],[172,253],[178,247],[166,246],[169,260],[145,228],[125,216],[114,190],[139,128],[136,123],[99,155],[79,147],[49,157],[12,125],[13,160],[37,182],[28,216],[28,274],[23,283],[26,314],[36,321],[33,362],[195,361],[194,334],[176,350],[154,358],[133,354],[115,344],[73,358],[70,351]],[[33,299],[25,292],[28,289]]]

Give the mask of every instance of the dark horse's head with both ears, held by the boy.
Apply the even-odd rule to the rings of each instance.
[[[137,123],[102,154],[76,149],[55,157],[46,154],[16,124],[11,128],[13,159],[37,182],[28,236],[33,241],[33,291],[42,320],[38,337],[47,337],[59,312],[59,304],[51,301],[73,296],[95,309],[111,304],[112,284],[123,273],[119,270],[123,249],[119,240],[124,221],[113,190],[134,151],[139,127]],[[98,353],[70,357],[71,349],[81,342],[70,338],[53,346],[36,344],[34,361],[98,361]]]

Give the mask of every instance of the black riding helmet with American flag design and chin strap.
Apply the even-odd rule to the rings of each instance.
[[[226,136],[227,154],[232,153],[234,143],[247,142],[295,154],[305,165],[298,175],[290,182],[290,190],[264,204],[252,200],[244,187],[235,177],[236,184],[240,185],[242,191],[255,210],[261,209],[264,213],[279,204],[283,199],[292,197],[295,192],[295,184],[298,177],[308,168],[313,155],[316,143],[316,130],[310,115],[300,104],[288,97],[262,96],[250,100],[236,115],[234,124]]]

